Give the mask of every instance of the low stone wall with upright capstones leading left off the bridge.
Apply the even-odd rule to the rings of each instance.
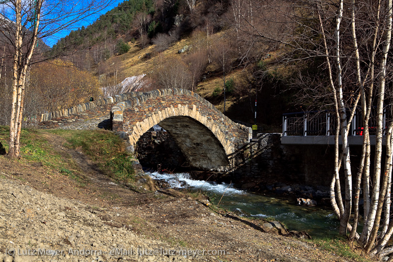
[[[69,109],[57,110],[52,113],[44,113],[40,117],[38,128],[58,128],[60,126],[73,124],[77,121],[90,119],[97,116],[110,116],[112,106],[118,102],[140,95],[142,92],[130,92],[98,99],[73,106]]]

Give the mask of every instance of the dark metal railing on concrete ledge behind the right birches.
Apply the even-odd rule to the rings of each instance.
[[[383,113],[383,135],[385,135],[389,124],[387,115],[390,114],[387,112],[390,112],[390,110],[384,110]],[[336,131],[335,119],[336,115],[330,111],[286,113],[282,115],[282,134],[283,136],[334,136]],[[388,119],[391,119],[391,117],[388,116]],[[363,135],[364,124],[360,110],[355,111],[350,128],[350,136]],[[375,110],[371,110],[368,131],[370,135],[376,133]]]

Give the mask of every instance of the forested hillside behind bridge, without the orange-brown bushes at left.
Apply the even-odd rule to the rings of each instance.
[[[144,74],[141,86],[146,90],[193,89],[221,111],[225,100],[227,115],[249,123],[254,121],[258,90],[257,121],[279,126],[282,112],[292,106],[283,94],[292,72],[272,66],[280,45],[255,36],[253,30],[279,34],[282,29],[266,22],[269,8],[258,1],[239,3],[124,1],[92,25],[60,39],[52,53],[61,52],[78,67],[95,72],[107,91],[127,77]],[[286,8],[282,3],[279,7]],[[252,16],[252,25],[244,15]]]

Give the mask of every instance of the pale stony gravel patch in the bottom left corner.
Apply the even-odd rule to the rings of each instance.
[[[0,181],[0,261],[189,261],[179,255],[144,255],[157,247],[164,254],[171,247],[108,226],[77,201]],[[172,247],[172,253],[177,251]]]

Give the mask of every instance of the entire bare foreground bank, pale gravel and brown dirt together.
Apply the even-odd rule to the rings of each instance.
[[[0,156],[0,261],[350,261],[201,196],[127,188],[58,135],[47,139],[84,179]]]

